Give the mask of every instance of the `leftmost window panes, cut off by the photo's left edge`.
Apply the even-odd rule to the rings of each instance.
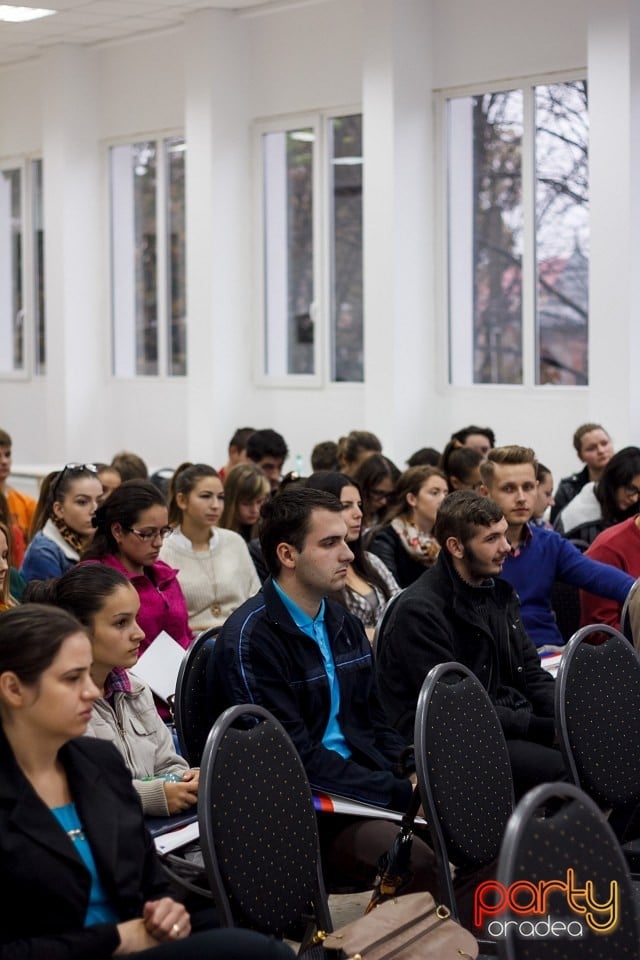
[[[0,375],[32,370],[45,372],[41,160],[0,169]]]

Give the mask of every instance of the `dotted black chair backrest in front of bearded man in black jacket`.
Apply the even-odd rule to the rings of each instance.
[[[478,868],[498,856],[513,810],[513,778],[502,727],[480,681],[460,663],[427,675],[416,710],[418,784],[455,910],[448,864]],[[445,889],[446,887],[446,889]]]

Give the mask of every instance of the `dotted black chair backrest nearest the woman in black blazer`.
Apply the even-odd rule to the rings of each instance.
[[[262,707],[230,707],[202,756],[200,843],[226,926],[282,936],[302,916],[331,929],[307,776],[288,734]]]

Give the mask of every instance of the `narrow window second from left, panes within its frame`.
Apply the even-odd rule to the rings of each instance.
[[[110,149],[116,376],[187,372],[184,153],[178,137]]]

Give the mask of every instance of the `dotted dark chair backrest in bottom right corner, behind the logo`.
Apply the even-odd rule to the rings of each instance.
[[[526,911],[518,915],[509,913],[508,909],[496,914],[493,920],[499,924],[515,921],[507,927],[506,939],[498,939],[500,956],[506,960],[637,958],[640,948],[637,901],[613,831],[593,801],[573,784],[542,784],[522,798],[509,820],[497,880],[505,891],[511,884],[526,884],[527,889],[516,896],[524,907],[533,900],[535,891],[532,892],[531,885],[537,888],[538,884],[553,880],[566,883],[568,870],[574,871],[574,888],[584,889],[585,884],[593,883],[593,896],[600,904],[604,905],[613,893],[611,907],[595,912],[593,920],[605,927],[607,920],[611,920],[613,928],[595,933],[587,917],[572,910],[567,903],[566,892],[556,889],[549,893],[547,903],[540,903],[544,908],[540,915]],[[581,906],[585,905],[584,896],[578,895],[576,899]],[[552,921],[567,924],[569,935],[562,935],[560,930],[559,936],[545,936],[545,931],[540,930],[539,936],[532,936],[531,923],[546,924],[549,915]],[[515,930],[519,923],[525,924],[518,931],[521,935]],[[500,932],[491,919],[488,930],[494,935]]]

